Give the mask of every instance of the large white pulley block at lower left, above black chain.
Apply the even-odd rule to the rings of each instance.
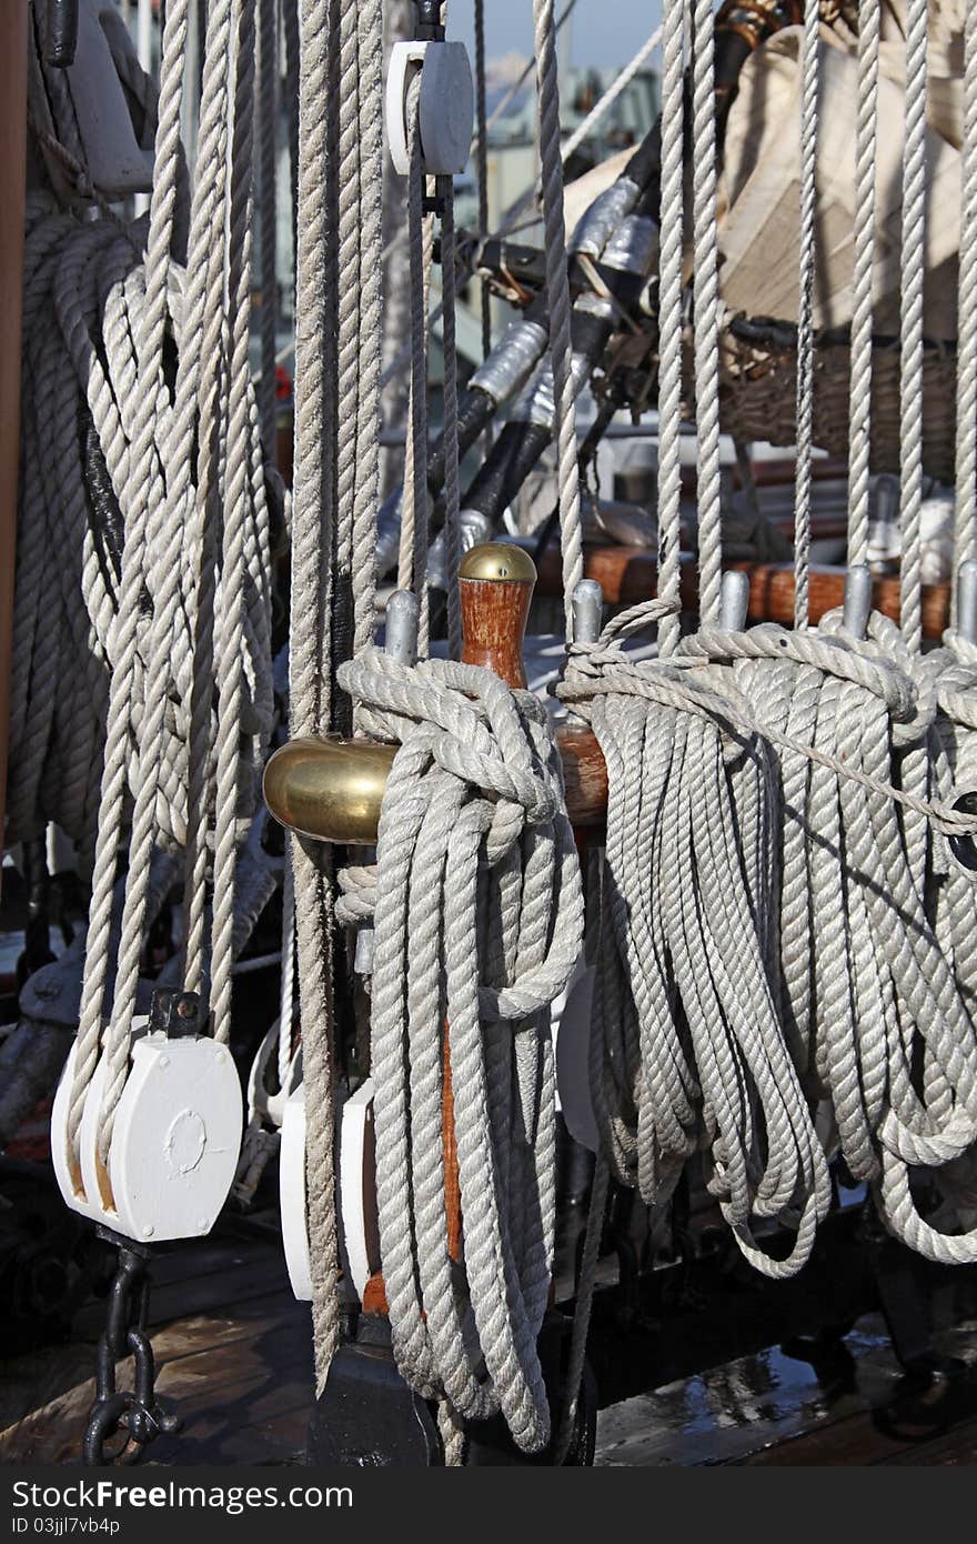
[[[241,1084],[227,1047],[205,1036],[161,1033],[133,1041],[106,1167],[97,1146],[105,1056],[88,1085],[77,1163],[71,1161],[68,1104],[76,1055],[77,1045],[65,1064],[51,1115],[54,1172],[68,1206],[142,1241],[208,1234],[241,1152]]]

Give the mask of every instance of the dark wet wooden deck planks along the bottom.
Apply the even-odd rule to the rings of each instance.
[[[154,1283],[159,1391],[184,1425],[148,1461],[301,1462],[312,1329],[273,1232],[235,1223],[179,1246],[156,1261]],[[90,1303],[66,1345],[0,1363],[0,1462],[77,1458],[102,1314]],[[597,1464],[975,1464],[977,1319],[943,1325],[937,1346],[966,1370],[923,1388],[903,1377],[875,1315],[816,1370],[778,1348],[729,1362],[603,1410]]]

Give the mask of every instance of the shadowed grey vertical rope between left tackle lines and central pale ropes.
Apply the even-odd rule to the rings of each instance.
[[[261,377],[258,405],[261,414],[261,448],[265,462],[275,465],[275,352],[278,337],[278,270],[276,270],[276,128],[278,128],[278,0],[259,0],[258,36],[258,187],[261,195]]]

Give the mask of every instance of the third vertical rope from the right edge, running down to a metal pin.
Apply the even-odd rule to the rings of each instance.
[[[849,398],[847,560],[869,553],[872,431],[872,269],[875,262],[875,142],[880,0],[858,0],[858,122],[855,134],[855,272]]]

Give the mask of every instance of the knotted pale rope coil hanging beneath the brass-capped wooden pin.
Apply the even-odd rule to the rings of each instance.
[[[400,741],[377,868],[372,1078],[380,1246],[397,1363],[465,1419],[548,1442],[536,1339],[554,1248],[549,1004],[579,954],[583,897],[545,709],[492,672],[369,648],[340,667],[363,727]],[[448,1024],[448,1030],[445,1030]],[[441,1146],[454,1090],[463,1243],[448,1240]]]

